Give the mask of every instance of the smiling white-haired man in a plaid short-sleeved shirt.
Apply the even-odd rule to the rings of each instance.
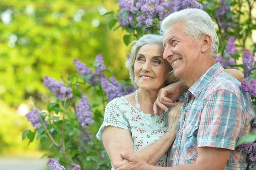
[[[117,170],[246,169],[246,155],[235,150],[236,142],[239,135],[250,131],[256,114],[240,83],[215,62],[218,36],[211,18],[203,10],[185,9],[166,17],[161,29],[164,58],[189,87],[169,151],[169,167],[154,167],[137,156],[121,153],[130,163]],[[168,90],[163,91],[169,95]]]

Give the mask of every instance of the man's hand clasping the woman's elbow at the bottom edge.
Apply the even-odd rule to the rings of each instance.
[[[149,164],[147,164],[142,158],[132,155],[131,153],[121,153],[121,156],[130,163],[117,168],[116,170],[150,170]]]

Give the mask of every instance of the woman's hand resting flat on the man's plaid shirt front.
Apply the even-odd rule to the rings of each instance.
[[[175,106],[173,106],[171,111],[169,112],[169,118],[168,118],[169,128],[167,132],[176,132],[177,124],[180,119],[182,106],[183,106],[183,102],[178,101],[175,103]]]

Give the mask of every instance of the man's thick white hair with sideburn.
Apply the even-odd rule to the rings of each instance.
[[[184,31],[193,39],[201,38],[203,35],[210,35],[212,43],[210,46],[211,55],[216,57],[218,54],[218,35],[214,29],[212,19],[207,12],[202,9],[183,9],[174,12],[166,17],[161,23],[161,32],[166,32],[175,23],[184,23]]]

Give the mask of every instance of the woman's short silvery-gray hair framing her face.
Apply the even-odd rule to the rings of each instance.
[[[136,89],[138,89],[139,87],[135,83],[135,74],[134,74],[134,63],[135,63],[136,57],[138,55],[138,52],[139,52],[140,48],[142,46],[144,46],[145,44],[159,44],[162,46],[163,45],[163,36],[147,34],[147,35],[144,35],[143,37],[141,37],[140,40],[133,41],[131,43],[131,45],[132,44],[134,44],[134,46],[131,49],[131,57],[126,61],[125,65],[129,69],[131,83],[134,85],[134,87]],[[170,65],[170,68],[172,69],[171,65]],[[179,78],[176,78],[174,76],[173,70],[171,72],[169,72],[168,74],[169,74],[169,77],[166,81],[166,85],[175,83],[180,80]]]

